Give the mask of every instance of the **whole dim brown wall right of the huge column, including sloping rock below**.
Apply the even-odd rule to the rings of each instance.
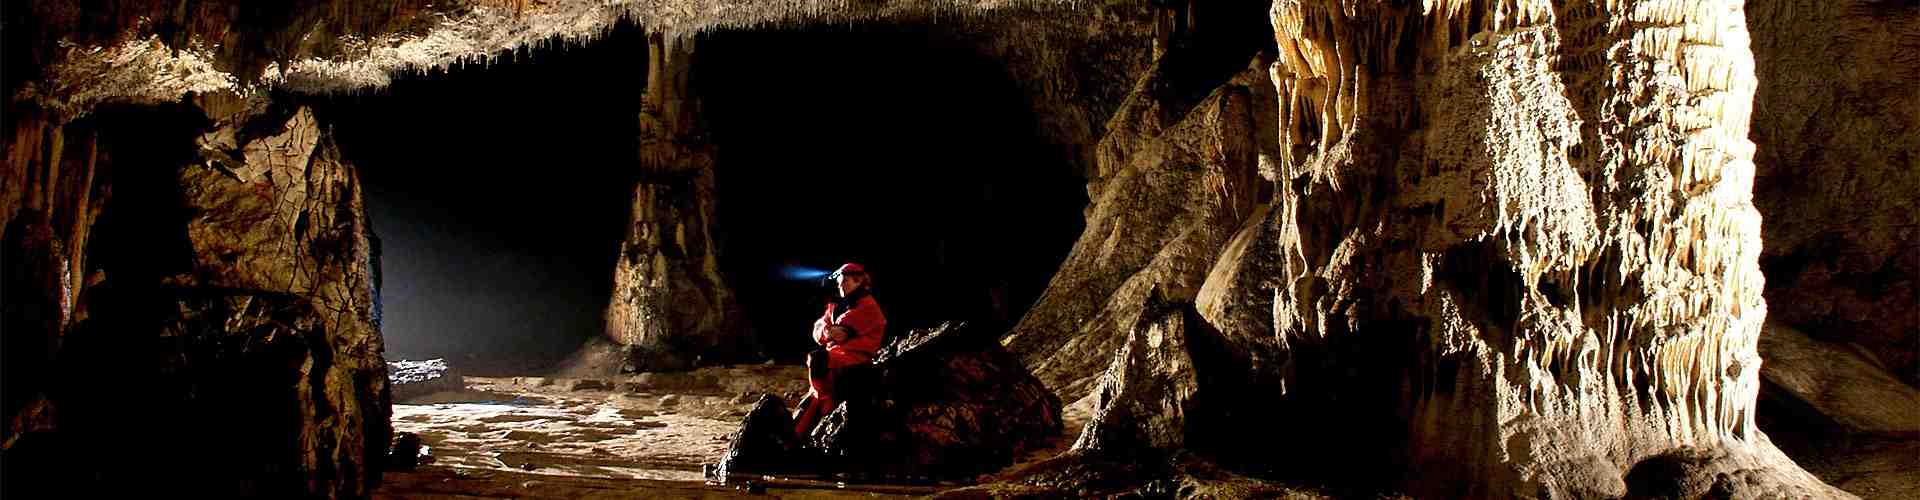
[[[1764,219],[1759,425],[1868,498],[1914,496],[1920,6],[1747,2]]]

